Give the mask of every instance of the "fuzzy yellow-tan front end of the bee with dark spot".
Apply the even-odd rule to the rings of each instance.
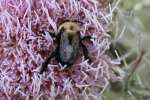
[[[62,30],[66,34],[75,35],[80,31],[80,26],[75,22],[64,22],[58,30]]]

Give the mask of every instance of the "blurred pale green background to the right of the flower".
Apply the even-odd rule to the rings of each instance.
[[[104,100],[150,100],[150,0],[120,0],[111,36],[122,60],[117,67],[131,78],[112,83]]]

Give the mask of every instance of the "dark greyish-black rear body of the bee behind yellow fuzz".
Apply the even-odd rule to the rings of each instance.
[[[76,60],[78,50],[79,39],[77,36],[67,37],[64,34],[61,35],[58,58],[63,65],[72,65]]]

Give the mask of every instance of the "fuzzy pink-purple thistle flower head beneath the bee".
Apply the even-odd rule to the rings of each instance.
[[[111,78],[111,59],[105,55],[109,14],[103,0],[0,0],[1,100],[101,99]],[[87,63],[80,52],[72,67],[62,69],[52,59],[39,75],[56,47],[48,32],[57,33],[66,20],[79,22],[82,36],[94,37],[84,43],[93,62]]]

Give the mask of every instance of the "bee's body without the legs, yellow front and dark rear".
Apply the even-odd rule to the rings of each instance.
[[[79,27],[74,23],[64,23],[60,27],[57,59],[60,60],[61,64],[72,65],[74,63],[79,50],[79,31]]]

